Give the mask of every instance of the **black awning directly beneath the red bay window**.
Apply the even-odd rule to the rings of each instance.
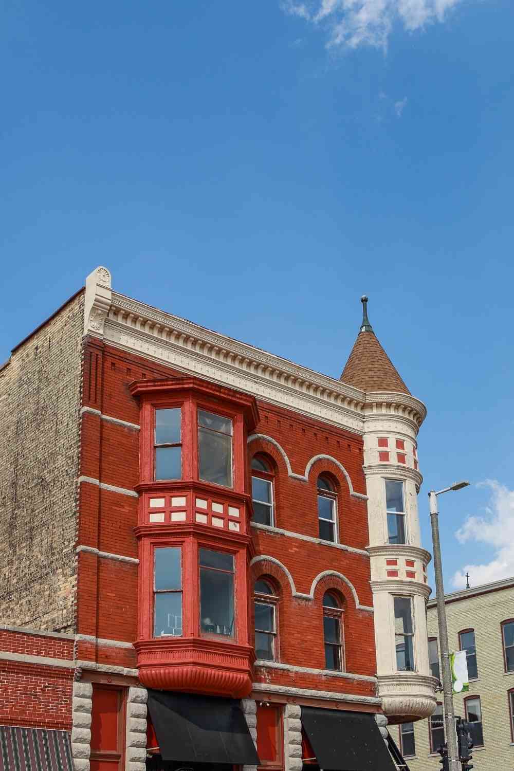
[[[259,763],[236,699],[149,690],[148,709],[163,760]]]

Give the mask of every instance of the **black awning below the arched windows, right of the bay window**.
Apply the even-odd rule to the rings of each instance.
[[[375,715],[302,707],[301,722],[322,769],[396,771]]]

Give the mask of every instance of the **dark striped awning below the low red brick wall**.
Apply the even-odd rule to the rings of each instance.
[[[73,771],[69,732],[0,726],[0,771]]]

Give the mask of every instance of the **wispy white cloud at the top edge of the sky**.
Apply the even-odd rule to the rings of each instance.
[[[321,24],[328,32],[329,48],[372,45],[385,49],[395,21],[409,32],[433,22],[443,22],[446,13],[461,0],[282,0],[287,13]]]

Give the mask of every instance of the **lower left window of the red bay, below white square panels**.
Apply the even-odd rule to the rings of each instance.
[[[182,635],[182,565],[180,547],[153,552],[153,636]]]

